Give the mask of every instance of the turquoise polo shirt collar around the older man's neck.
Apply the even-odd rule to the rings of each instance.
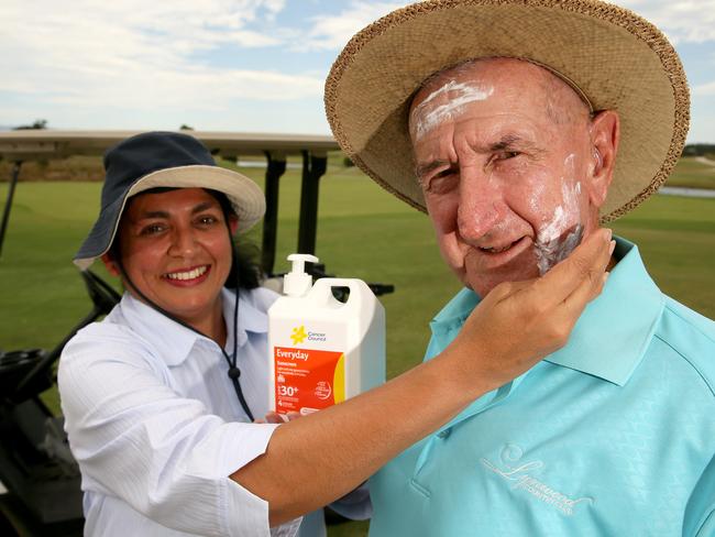
[[[625,385],[650,343],[664,297],[646,272],[638,246],[616,238],[618,261],[603,293],[576,321],[569,342],[544,360]],[[457,296],[430,324],[436,348],[451,342],[480,297],[470,289]]]

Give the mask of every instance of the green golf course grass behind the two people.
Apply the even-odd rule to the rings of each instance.
[[[382,297],[392,377],[421,361],[428,321],[459,285],[439,257],[428,219],[339,161],[331,157],[321,182],[316,253],[330,273],[395,285]],[[262,183],[263,169],[242,172]],[[678,173],[683,180],[706,177],[697,162]],[[287,270],[285,256],[297,244],[299,175],[289,169],[282,179],[278,271]],[[1,349],[52,348],[90,309],[70,257],[96,217],[99,189],[88,182],[18,185],[0,257]],[[2,184],[0,199],[6,196]],[[639,244],[666,293],[715,317],[715,199],[654,196],[613,228]],[[258,229],[250,239],[260,237]],[[56,394],[45,397],[56,408]],[[365,535],[366,527],[339,525],[330,535]]]

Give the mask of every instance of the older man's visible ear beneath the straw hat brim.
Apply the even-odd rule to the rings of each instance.
[[[593,173],[591,174],[588,196],[595,207],[601,208],[606,201],[616,167],[619,140],[620,119],[615,110],[598,112],[591,120]]]

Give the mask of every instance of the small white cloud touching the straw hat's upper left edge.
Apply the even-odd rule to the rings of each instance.
[[[367,2],[354,0],[336,15],[311,18],[312,28],[301,40],[304,50],[340,50],[358,31],[391,11],[406,6],[405,2]]]

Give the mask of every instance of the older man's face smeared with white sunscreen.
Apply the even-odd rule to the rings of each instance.
[[[442,256],[479,295],[546,273],[596,228],[604,136],[546,69],[499,58],[446,72],[417,94],[409,128]]]

